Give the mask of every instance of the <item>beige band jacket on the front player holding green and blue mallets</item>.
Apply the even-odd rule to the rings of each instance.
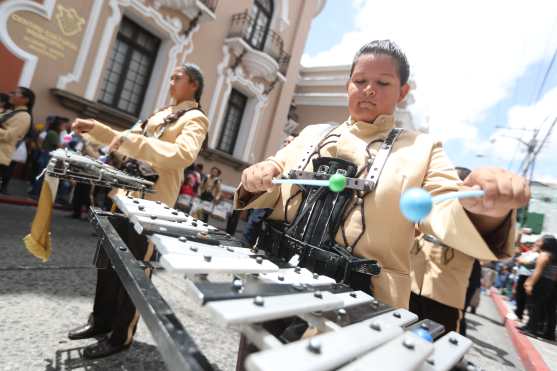
[[[333,130],[332,134],[338,136],[331,138],[332,142],[327,140],[329,143],[321,149],[320,154],[351,161],[360,170],[368,164],[368,143],[385,139],[393,127],[392,115],[381,115],[373,124],[349,119]],[[283,175],[287,175],[298,164],[308,146],[319,137],[309,126],[270,160],[281,169]],[[377,153],[380,145],[381,143],[374,143],[370,146],[372,156]],[[311,162],[305,170],[313,170]],[[364,171],[362,177],[366,173]],[[439,142],[426,134],[407,130],[402,132],[385,164],[377,188],[364,198],[365,233],[353,250],[353,254],[377,259],[381,264],[381,273],[373,278],[373,292],[379,300],[396,307],[408,307],[411,286],[410,249],[414,240],[414,224],[406,220],[399,210],[401,193],[411,187],[422,187],[435,196],[457,191],[460,185],[461,181]],[[234,198],[235,207],[273,208],[270,219],[283,220],[286,200],[297,189],[295,185],[283,184],[244,200],[238,197],[239,188]],[[301,195],[289,203],[286,212],[289,222],[293,220],[300,200]],[[437,204],[418,228],[423,233],[437,236],[463,254],[494,260],[496,256],[490,247],[494,250],[512,251],[513,224],[508,219],[507,223],[490,235],[486,243],[460,202],[448,200]],[[348,245],[352,244],[362,231],[359,208],[355,208],[347,216],[344,231]],[[340,228],[336,241],[347,246]]]

